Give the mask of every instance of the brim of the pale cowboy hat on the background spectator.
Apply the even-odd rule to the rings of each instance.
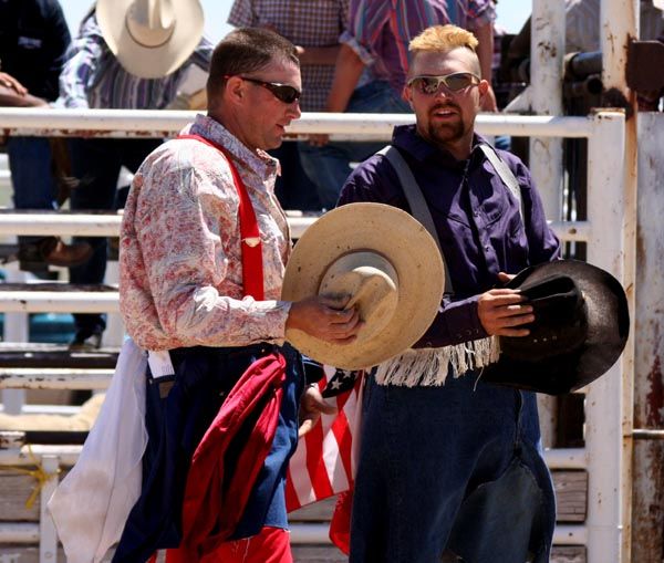
[[[122,66],[141,79],[162,79],[191,55],[203,37],[204,15],[198,1],[174,2],[175,29],[159,46],[137,43],[127,31],[125,14],[134,0],[97,0],[96,19],[104,41]]]

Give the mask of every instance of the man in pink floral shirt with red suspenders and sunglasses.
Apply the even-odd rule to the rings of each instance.
[[[144,562],[163,548],[179,548],[169,561],[292,561],[287,463],[299,420],[307,428],[330,408],[304,389],[286,330],[339,344],[361,325],[330,300],[280,300],[291,242],[273,192],[279,163],[266,150],[300,117],[300,94],[294,45],[236,30],[212,53],[207,115],[136,171],[120,293],[128,334],[149,351],[148,441],[143,490],[113,561]],[[212,467],[197,461],[204,450]]]

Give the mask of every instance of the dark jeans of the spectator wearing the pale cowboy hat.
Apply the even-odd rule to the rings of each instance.
[[[159,139],[84,139],[70,143],[72,171],[80,180],[72,190],[71,208],[75,211],[108,211],[117,208],[116,188],[124,166],[135,173],[145,157],[162,144]],[[92,244],[94,253],[84,264],[70,268],[72,283],[103,283],[106,273],[107,244],[105,238],[77,237],[75,241]],[[74,314],[76,331],[92,333],[106,327],[101,314]]]

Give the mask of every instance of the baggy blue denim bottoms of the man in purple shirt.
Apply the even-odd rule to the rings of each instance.
[[[535,395],[475,373],[439,387],[370,377],[362,416],[351,563],[549,561],[556,509]]]

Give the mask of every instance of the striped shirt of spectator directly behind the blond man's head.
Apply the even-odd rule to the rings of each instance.
[[[496,19],[494,0],[351,0],[351,17],[341,42],[374,79],[402,92],[408,69],[408,43],[430,25],[454,23],[476,30]]]

